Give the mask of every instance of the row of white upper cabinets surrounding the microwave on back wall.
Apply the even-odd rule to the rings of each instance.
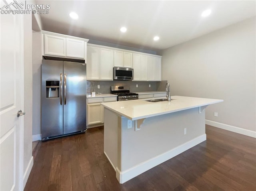
[[[87,79],[113,80],[113,67],[133,68],[133,81],[161,81],[161,57],[89,44]]]

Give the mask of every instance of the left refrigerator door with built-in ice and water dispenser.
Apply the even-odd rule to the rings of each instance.
[[[42,60],[42,138],[63,134],[63,61]]]

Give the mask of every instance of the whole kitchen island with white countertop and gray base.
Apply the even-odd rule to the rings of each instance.
[[[205,141],[205,108],[223,101],[184,96],[172,99],[102,103],[104,153],[120,183]]]

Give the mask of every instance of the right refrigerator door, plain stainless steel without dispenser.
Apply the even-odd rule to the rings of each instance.
[[[86,64],[64,62],[64,134],[86,130]]]

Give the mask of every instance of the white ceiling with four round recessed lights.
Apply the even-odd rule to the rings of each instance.
[[[82,1],[50,4],[42,30],[149,50],[161,50],[256,15],[256,1]],[[212,14],[202,18],[201,13]],[[69,17],[76,12],[78,20]],[[127,32],[120,28],[126,26]],[[160,39],[153,41],[158,35]],[[90,41],[89,41],[90,43]]]

